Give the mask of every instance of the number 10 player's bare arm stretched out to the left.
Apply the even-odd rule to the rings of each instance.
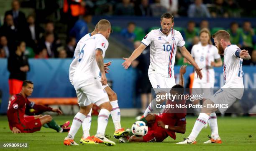
[[[143,52],[143,50],[145,50],[145,48],[146,48],[146,45],[141,44],[136,50],[133,51],[133,53],[129,58],[123,58],[125,62],[123,62],[122,66],[125,69],[128,69],[128,67],[131,65],[131,62],[133,62],[133,60],[135,60],[139,55],[141,55],[141,53]]]

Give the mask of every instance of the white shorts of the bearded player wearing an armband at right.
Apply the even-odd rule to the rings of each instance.
[[[227,88],[220,88],[215,94],[209,98],[214,104],[220,104],[218,109],[220,113],[225,113],[225,111],[238,100],[233,95],[233,91]]]

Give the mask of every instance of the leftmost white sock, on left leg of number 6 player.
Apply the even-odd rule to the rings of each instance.
[[[80,112],[78,112],[74,116],[74,119],[72,121],[72,125],[70,127],[70,131],[69,131],[69,134],[68,134],[67,138],[74,139],[74,136],[77,134],[77,131],[80,128],[80,126],[82,125],[85,117],[86,116],[84,114],[80,113]]]

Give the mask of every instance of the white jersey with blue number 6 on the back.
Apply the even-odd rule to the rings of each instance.
[[[102,56],[108,49],[108,40],[101,34],[95,34],[87,39],[81,39],[77,43],[76,50],[80,50],[73,82],[80,83],[90,78],[97,78],[100,69],[95,59],[97,49],[102,50]]]

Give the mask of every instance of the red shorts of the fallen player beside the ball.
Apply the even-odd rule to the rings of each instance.
[[[143,136],[144,142],[162,142],[169,136],[166,133],[165,129],[161,128],[160,126],[157,126],[157,121],[162,121],[161,117],[158,115],[155,116],[155,122],[148,125],[148,133],[145,136]]]

